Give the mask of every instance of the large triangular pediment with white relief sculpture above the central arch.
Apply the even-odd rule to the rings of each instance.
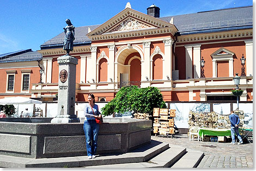
[[[92,30],[87,34],[88,37],[96,35],[106,35],[115,33],[124,33],[138,30],[170,28],[173,33],[178,29],[168,22],[164,22],[158,18],[143,14],[131,8],[126,8],[112,17],[101,26]]]

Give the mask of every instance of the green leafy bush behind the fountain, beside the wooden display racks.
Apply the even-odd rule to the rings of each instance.
[[[167,108],[160,90],[156,87],[138,88],[138,86],[122,87],[111,102],[102,107],[102,115],[109,116],[113,112],[153,113],[154,107]]]

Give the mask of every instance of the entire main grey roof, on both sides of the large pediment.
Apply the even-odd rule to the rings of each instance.
[[[165,22],[173,22],[179,34],[210,33],[225,30],[245,29],[253,27],[253,7],[238,7],[220,10],[202,11],[193,14],[160,17]],[[94,30],[100,25],[77,27],[75,29],[74,46],[90,45],[86,36],[88,28]],[[63,47],[64,31],[40,46],[41,49]]]

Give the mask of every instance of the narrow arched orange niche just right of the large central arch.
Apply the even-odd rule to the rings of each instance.
[[[163,58],[156,54],[153,58],[153,80],[163,79]]]

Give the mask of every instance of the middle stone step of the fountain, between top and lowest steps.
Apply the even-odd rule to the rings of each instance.
[[[173,146],[146,162],[107,164],[101,166],[89,166],[86,168],[166,168],[175,163],[186,153],[186,148]]]

